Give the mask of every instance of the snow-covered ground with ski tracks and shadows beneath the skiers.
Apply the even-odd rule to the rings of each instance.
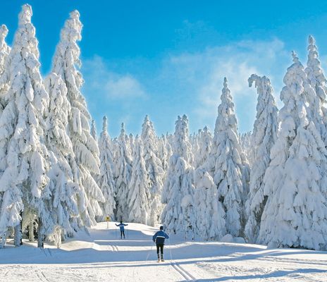
[[[156,262],[155,228],[114,223],[79,233],[61,250],[34,243],[0,250],[0,281],[327,281],[327,252],[266,249],[262,245],[185,242],[171,235],[166,262]],[[149,255],[149,257],[148,257]],[[148,257],[148,259],[147,259]]]

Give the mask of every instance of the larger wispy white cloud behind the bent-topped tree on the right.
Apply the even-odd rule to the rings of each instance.
[[[278,93],[283,82],[281,65],[287,64],[288,60],[291,62],[289,58],[290,54],[279,39],[247,40],[171,56],[166,59],[164,72],[172,72],[175,80],[190,86],[186,89],[190,91],[190,97],[197,100],[192,109],[197,123],[215,120],[224,77],[228,78],[238,116],[254,120],[257,95],[255,90],[249,89],[247,78],[252,73],[268,75],[272,82],[276,82],[273,86]],[[167,73],[163,75],[168,76]],[[252,106],[251,112],[244,109],[248,104]]]

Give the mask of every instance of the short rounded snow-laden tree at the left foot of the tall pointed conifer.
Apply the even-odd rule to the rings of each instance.
[[[204,240],[219,240],[226,234],[226,213],[218,201],[213,178],[204,166],[195,170],[196,231]]]

